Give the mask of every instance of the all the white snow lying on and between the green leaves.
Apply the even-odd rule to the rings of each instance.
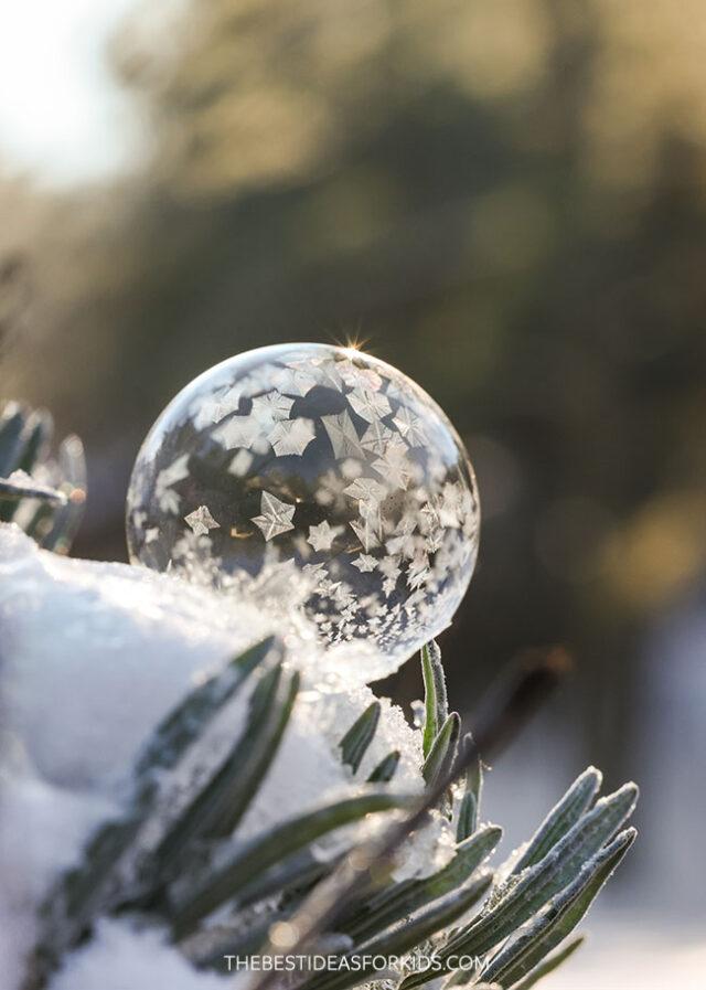
[[[393,749],[402,754],[395,790],[419,791],[419,733],[387,699],[355,777],[341,763],[342,736],[374,699],[362,682],[360,647],[324,654],[301,621],[287,625],[255,602],[226,609],[217,593],[175,576],[68,560],[39,550],[17,526],[0,524],[0,968],[7,990],[19,987],[36,906],[95,827],[117,809],[157,722],[195,683],[270,631],[282,638],[287,666],[300,668],[302,689],[237,842],[361,788]],[[247,692],[240,692],[214,720],[195,770],[204,754],[207,770],[233,745],[246,706]],[[184,789],[184,779],[173,776],[165,781],[164,802],[172,813],[178,805],[170,786],[176,796]],[[379,822],[381,816],[372,816],[364,834]],[[448,823],[437,816],[408,844],[397,875],[438,869],[452,844]],[[330,854],[330,843],[319,851]],[[200,990],[216,981],[223,986],[192,970],[159,933],[104,922],[51,990]]]

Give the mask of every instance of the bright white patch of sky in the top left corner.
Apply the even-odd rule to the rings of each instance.
[[[62,188],[130,161],[137,120],[105,50],[137,2],[0,0],[0,168]]]

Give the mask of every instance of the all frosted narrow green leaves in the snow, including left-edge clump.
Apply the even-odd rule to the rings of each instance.
[[[46,413],[17,403],[0,412],[0,520],[13,519],[42,546],[64,551],[81,518],[85,465],[75,437],[51,459],[51,436]],[[13,471],[30,477],[12,478]],[[286,818],[247,842],[239,840],[238,826],[287,745],[299,675],[284,668],[284,645],[268,637],[190,691],[156,726],[136,760],[125,811],[96,830],[79,863],[47,893],[23,990],[44,990],[64,956],[90,937],[98,918],[129,909],[139,911],[147,924],[167,922],[175,946],[194,965],[223,971],[224,955],[257,954],[268,944],[275,922],[296,918],[309,892],[315,897],[325,888],[320,884],[331,883],[366,816],[403,816],[403,823],[407,812],[414,816],[418,796],[411,801],[389,787],[400,763],[395,749],[354,791]],[[421,774],[427,788],[435,788],[450,779],[461,720],[449,713],[434,640],[421,650]],[[164,826],[158,818],[164,813],[164,788],[178,779],[188,756],[199,755],[213,718],[245,690],[249,698],[243,732]],[[340,741],[341,760],[353,775],[383,717],[379,702],[373,702]],[[510,876],[498,883],[488,861],[502,830],[479,823],[479,756],[463,789],[447,788],[431,812],[438,816],[440,808],[454,821],[457,844],[447,865],[427,876],[394,882],[387,860],[375,864],[368,888],[343,905],[335,933],[328,933],[349,939],[345,950],[336,954],[404,956],[431,947],[447,986],[530,990],[581,944],[581,936],[573,937],[574,928],[634,840],[633,829],[619,830],[634,808],[638,788],[629,784],[596,800],[600,784],[595,768],[581,774],[542,822]],[[153,826],[163,829],[162,838],[147,853],[141,835]],[[424,827],[415,821],[415,829]],[[350,834],[343,832],[336,854],[322,861],[315,843],[342,829]],[[132,871],[124,871],[125,863]],[[469,919],[477,904],[482,906]],[[227,920],[210,927],[213,913],[226,906]],[[483,957],[483,970],[452,971],[450,960],[462,955]],[[439,975],[413,972],[400,980],[400,990],[414,990]],[[376,977],[374,971],[340,968],[311,977],[302,987],[347,990]]]

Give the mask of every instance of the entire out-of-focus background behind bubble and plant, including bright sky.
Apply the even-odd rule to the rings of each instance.
[[[510,849],[589,762],[643,789],[548,988],[703,986],[705,330],[700,0],[3,11],[0,392],[86,443],[75,553],[125,558],[138,446],[211,364],[355,340],[416,379],[484,512],[452,698],[575,661],[488,815]],[[416,667],[387,686],[417,696]]]

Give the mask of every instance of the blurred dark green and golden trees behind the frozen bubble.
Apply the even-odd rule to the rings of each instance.
[[[477,464],[451,678],[567,640],[606,762],[635,637],[706,561],[702,4],[169,11],[146,7],[114,52],[151,163],[47,205],[45,315],[8,362],[88,441],[79,551],[119,552],[131,457],[195,373],[361,337]]]

